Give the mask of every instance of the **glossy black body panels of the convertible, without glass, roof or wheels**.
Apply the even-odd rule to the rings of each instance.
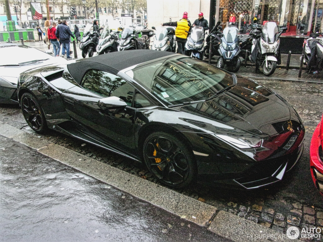
[[[52,75],[50,68],[47,71]],[[35,70],[32,78],[26,78],[18,95],[29,91],[36,96],[49,128],[135,160],[142,160],[142,144],[151,132],[177,134],[193,151],[206,155],[195,155],[201,181],[248,184],[270,178],[284,164],[286,171],[290,169],[302,152],[305,130],[296,111],[255,81],[238,76],[236,86],[208,102],[168,108],[158,104],[136,81],[120,75],[153,105],[139,109],[127,106],[117,115],[105,112],[97,105],[102,96],[64,78],[48,81],[46,70]],[[258,148],[240,149],[216,134],[258,137],[263,143]],[[295,135],[293,146],[284,149]]]

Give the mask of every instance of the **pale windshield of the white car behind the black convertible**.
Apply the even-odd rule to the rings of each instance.
[[[18,65],[19,63],[51,58],[51,55],[25,45],[3,46],[0,47],[0,52],[1,56],[5,56],[5,58],[0,58],[0,66]],[[19,53],[19,58],[13,53]]]

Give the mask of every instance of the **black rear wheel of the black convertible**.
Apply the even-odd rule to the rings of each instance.
[[[37,133],[47,131],[45,115],[42,112],[36,98],[30,93],[24,93],[21,97],[21,110],[27,124]]]

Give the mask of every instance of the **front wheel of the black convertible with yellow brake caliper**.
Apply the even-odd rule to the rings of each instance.
[[[151,173],[169,187],[187,187],[196,175],[193,152],[171,134],[156,132],[148,136],[143,156]]]

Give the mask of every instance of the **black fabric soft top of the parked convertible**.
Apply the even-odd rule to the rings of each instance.
[[[85,73],[90,69],[110,72],[114,75],[120,70],[146,61],[151,61],[168,55],[172,52],[156,50],[126,50],[86,58],[76,63],[67,65],[69,73],[80,84]]]

